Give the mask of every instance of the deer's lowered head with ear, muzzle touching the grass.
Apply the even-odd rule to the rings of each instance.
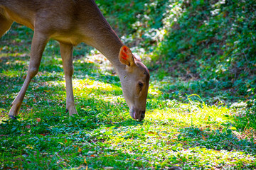
[[[146,96],[149,89],[149,70],[129,47],[123,45],[119,51],[119,61],[125,69],[119,74],[124,98],[129,106],[129,114],[135,120],[143,120],[146,112]]]

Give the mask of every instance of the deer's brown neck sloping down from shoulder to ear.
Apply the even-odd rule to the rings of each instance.
[[[119,50],[122,41],[111,28],[95,1],[87,1],[80,23],[80,33],[83,33],[83,42],[95,47],[111,62],[117,74],[122,74],[125,65],[119,61]]]

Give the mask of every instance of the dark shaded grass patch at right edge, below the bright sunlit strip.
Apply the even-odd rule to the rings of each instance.
[[[223,130],[200,130],[196,127],[181,128],[178,141],[183,143],[186,149],[200,147],[214,149],[216,151],[226,150],[228,152],[245,152],[256,154],[256,145],[252,140],[240,140],[229,128]]]

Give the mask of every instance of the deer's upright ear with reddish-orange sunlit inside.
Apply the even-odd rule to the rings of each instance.
[[[134,57],[132,55],[132,51],[126,45],[123,45],[120,48],[119,61],[129,67],[134,64]]]

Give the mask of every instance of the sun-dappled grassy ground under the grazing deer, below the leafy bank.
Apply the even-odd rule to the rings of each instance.
[[[146,118],[132,120],[112,67],[85,45],[74,52],[79,116],[65,113],[62,62],[50,41],[18,120],[9,120],[31,37],[15,25],[0,42],[0,169],[256,169],[256,121],[242,116],[245,103],[186,96],[169,89],[189,82],[151,72]]]

